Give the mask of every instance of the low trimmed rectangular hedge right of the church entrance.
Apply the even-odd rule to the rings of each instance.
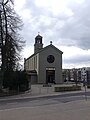
[[[81,90],[81,86],[59,86],[55,87],[55,92],[65,92],[65,91],[77,91]]]

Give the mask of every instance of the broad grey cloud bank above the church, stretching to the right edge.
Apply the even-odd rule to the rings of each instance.
[[[77,46],[82,49],[90,48],[89,0],[85,0],[82,5],[71,0],[68,8],[73,11],[73,16],[67,16],[64,13],[55,16],[47,8],[37,7],[34,2],[35,0],[27,0],[24,6],[24,9],[30,10],[33,19],[25,21],[23,36],[27,43],[33,43],[33,39],[39,31],[45,39],[45,44],[48,40],[52,40],[60,45]],[[48,21],[50,24],[47,24]]]

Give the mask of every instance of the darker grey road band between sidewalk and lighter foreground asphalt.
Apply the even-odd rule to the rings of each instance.
[[[71,101],[85,100],[85,99],[90,99],[90,92],[87,92],[86,97],[84,92],[78,92],[78,93],[67,93],[61,95],[52,95],[52,96],[44,96],[44,97],[36,97],[36,98],[28,97],[28,98],[18,98],[18,99],[7,99],[7,100],[0,100],[0,110],[67,103]]]

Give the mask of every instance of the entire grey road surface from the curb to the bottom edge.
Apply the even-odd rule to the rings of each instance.
[[[90,92],[0,100],[0,120],[90,120]]]

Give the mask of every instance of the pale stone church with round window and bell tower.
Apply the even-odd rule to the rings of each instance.
[[[34,54],[24,59],[24,69],[31,84],[60,84],[62,80],[63,52],[52,45],[43,47],[43,37],[35,37]]]

